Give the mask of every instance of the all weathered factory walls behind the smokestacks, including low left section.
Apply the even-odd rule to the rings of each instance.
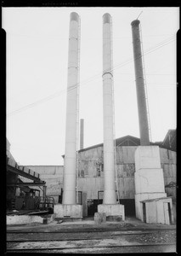
[[[137,146],[116,147],[117,182],[120,199],[134,199],[134,152]],[[160,148],[161,168],[164,173],[164,182],[167,196],[176,199],[176,152]],[[54,196],[57,203],[63,188],[64,166],[27,166],[31,170],[40,173],[40,178],[46,182],[47,195]],[[169,187],[169,184],[171,186]],[[103,147],[83,149],[79,153],[79,179],[78,190],[85,191],[88,199],[103,198],[104,190],[104,165]]]

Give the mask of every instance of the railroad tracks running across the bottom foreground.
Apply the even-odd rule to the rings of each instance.
[[[61,230],[7,233],[7,253],[166,253],[176,252],[175,241],[144,241],[173,230]],[[170,233],[170,235],[169,235]],[[139,237],[139,239],[138,239]]]

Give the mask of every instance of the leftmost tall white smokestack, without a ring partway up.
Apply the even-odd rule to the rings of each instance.
[[[76,204],[76,122],[79,86],[79,26],[79,15],[71,13],[66,98],[64,193],[62,201],[63,204],[67,205]]]

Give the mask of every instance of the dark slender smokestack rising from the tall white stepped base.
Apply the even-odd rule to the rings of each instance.
[[[146,108],[146,97],[144,90],[144,73],[143,73],[143,61],[139,34],[139,20],[133,20],[132,35],[133,35],[133,55],[134,55],[134,69],[136,79],[137,90],[137,102],[139,110],[139,133],[140,133],[140,145],[150,145],[149,138],[149,124]]]

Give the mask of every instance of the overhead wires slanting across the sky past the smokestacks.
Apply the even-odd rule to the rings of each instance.
[[[150,54],[150,53],[154,52],[154,51],[157,50],[157,49],[161,49],[162,47],[166,46],[167,44],[172,43],[173,41],[175,41],[175,37],[174,37],[174,36],[171,37],[171,38],[167,38],[167,39],[163,40],[161,43],[156,44],[154,47],[151,47],[150,49],[145,50],[145,52],[143,53],[143,55],[147,55],[147,54]],[[142,56],[142,55],[141,55],[141,56]],[[139,56],[139,57],[140,57],[140,56]],[[113,70],[116,70],[116,69],[118,69],[118,68],[124,67],[124,66],[126,66],[127,64],[131,63],[132,61],[133,61],[133,58],[130,58],[130,59],[128,59],[127,61],[123,61],[122,63],[116,65],[116,66],[113,68]],[[113,70],[112,70],[112,71],[113,71]],[[102,72],[99,72],[99,73],[93,75],[92,77],[90,77],[89,79],[85,79],[85,80],[81,81],[80,84],[82,84],[82,86],[84,86],[85,84],[88,84],[89,82],[91,82],[91,81],[93,81],[93,80],[99,78],[101,74],[102,74]],[[71,87],[71,89],[69,89],[69,90],[74,90],[74,89],[76,88],[76,86],[77,86],[77,84],[73,85],[73,86]],[[79,85],[78,85],[78,86],[79,86]],[[33,103],[31,103],[31,104],[26,105],[25,107],[22,107],[22,108],[19,108],[19,109],[17,109],[17,110],[14,110],[14,111],[8,113],[7,116],[10,117],[10,116],[12,116],[12,115],[14,115],[14,114],[16,114],[16,113],[20,113],[20,112],[22,112],[22,111],[28,109],[28,108],[33,108],[33,107],[36,106],[37,104],[40,104],[40,103],[43,103],[43,102],[48,102],[49,100],[52,100],[54,97],[59,96],[59,95],[65,93],[65,91],[66,91],[66,90],[59,90],[58,92],[54,93],[54,94],[51,95],[51,96],[47,96],[47,97],[45,97],[45,98],[42,98],[42,99],[38,100],[37,102],[33,102]]]

